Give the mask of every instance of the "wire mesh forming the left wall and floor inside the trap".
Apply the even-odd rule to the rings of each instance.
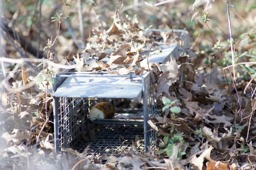
[[[151,91],[152,90],[149,90],[149,92]],[[152,98],[152,95],[150,96]],[[60,97],[60,107],[58,108],[60,111],[58,114],[58,134],[61,147],[74,148],[82,152],[84,148],[90,144],[86,157],[94,157],[94,159],[97,159],[100,155],[125,155],[132,146],[132,141],[135,141],[136,135],[143,138],[143,126],[89,125],[89,110],[95,103],[106,100],[109,99],[92,100],[85,98]],[[151,102],[149,106],[155,107],[155,103]],[[89,142],[85,142],[82,136],[89,136],[88,132],[95,127],[97,129],[97,139],[90,139]],[[141,152],[144,151],[144,147],[143,141],[137,146],[138,150]]]

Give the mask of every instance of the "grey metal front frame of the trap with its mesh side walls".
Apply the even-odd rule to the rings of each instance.
[[[144,143],[145,152],[147,152],[146,146],[154,146],[154,132],[149,131],[149,125],[147,121],[149,117],[152,118],[158,115],[161,110],[157,105],[154,86],[151,83],[150,73],[146,72],[143,75],[135,75],[130,73],[128,75],[113,75],[107,74],[108,72],[99,72],[97,74],[91,74],[91,72],[61,72],[56,74],[57,82],[54,85],[53,91],[56,92],[65,78],[72,77],[107,77],[107,78],[129,78],[130,81],[134,78],[140,78],[142,80],[142,97],[143,97],[143,120],[123,120],[123,119],[102,119],[93,121],[94,124],[115,124],[115,125],[143,125],[144,129]],[[78,81],[79,82],[79,81]],[[130,83],[132,84],[132,83]],[[61,97],[62,96],[62,97]],[[70,98],[69,95],[61,95],[54,93],[54,136],[59,136],[59,139],[55,137],[55,149],[59,151],[59,147],[74,147],[77,146],[82,139],[81,132],[88,130],[86,126],[89,123],[87,118],[88,112],[95,104],[94,100],[89,99],[89,96],[82,96],[81,94],[74,94]],[[86,98],[80,98],[86,97]],[[97,97],[95,94],[94,98]],[[119,95],[115,95],[111,98],[120,98]],[[58,107],[58,105],[60,105]],[[59,112],[60,111],[60,112]],[[80,112],[80,113],[79,113]],[[58,114],[57,114],[58,113]],[[79,120],[80,118],[81,120]],[[60,126],[59,126],[60,125]],[[111,127],[113,128],[113,127]],[[135,128],[136,129],[136,128]],[[119,131],[120,132],[120,131]],[[127,136],[127,135],[126,135]],[[151,136],[151,139],[150,139]],[[135,137],[135,136],[134,136]],[[72,141],[73,140],[73,141]],[[111,144],[109,144],[110,146]],[[115,146],[114,146],[115,147]]]

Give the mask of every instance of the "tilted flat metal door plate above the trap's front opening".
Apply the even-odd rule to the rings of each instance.
[[[55,97],[84,98],[142,98],[142,78],[132,80],[129,75],[113,77],[77,77],[85,74],[70,74],[61,86],[54,92]],[[97,75],[100,76],[100,75]],[[116,77],[115,77],[116,76]],[[149,81],[149,72],[142,75]]]

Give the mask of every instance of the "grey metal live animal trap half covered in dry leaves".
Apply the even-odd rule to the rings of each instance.
[[[156,30],[159,31],[159,30]],[[160,30],[161,31],[161,30]],[[166,31],[166,30],[163,30]],[[189,47],[189,33],[173,30],[180,35],[184,44],[160,45],[162,53],[149,57],[149,62],[165,63],[170,55],[175,58]],[[183,48],[183,49],[182,49]],[[129,73],[114,75],[108,72],[75,72],[73,70],[56,74],[53,87],[54,101],[54,139],[55,149],[73,148],[82,152],[88,145],[87,156],[125,155],[137,141],[141,151],[155,148],[155,131],[150,130],[147,121],[161,113],[157,103],[154,84],[150,72],[142,75]],[[114,104],[119,100],[133,100],[142,103],[141,108],[116,109],[116,115],[133,112],[142,119],[96,119],[89,120],[88,113],[98,102]],[[134,113],[135,112],[135,113]],[[138,142],[144,139],[144,142]]]

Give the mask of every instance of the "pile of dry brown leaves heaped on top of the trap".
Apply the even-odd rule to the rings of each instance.
[[[94,28],[91,31],[86,49],[77,53],[76,57],[73,56],[75,62],[68,60],[68,64],[73,65],[77,71],[108,71],[117,75],[135,71],[135,74],[139,75],[144,70],[152,69],[153,63],[147,62],[149,51],[159,53],[161,48],[158,44],[168,45],[178,39],[178,35],[172,30],[154,34],[149,28],[145,31],[140,29],[136,15],[133,21],[127,15],[121,18],[120,9],[122,5],[117,6],[113,24],[108,30]]]

